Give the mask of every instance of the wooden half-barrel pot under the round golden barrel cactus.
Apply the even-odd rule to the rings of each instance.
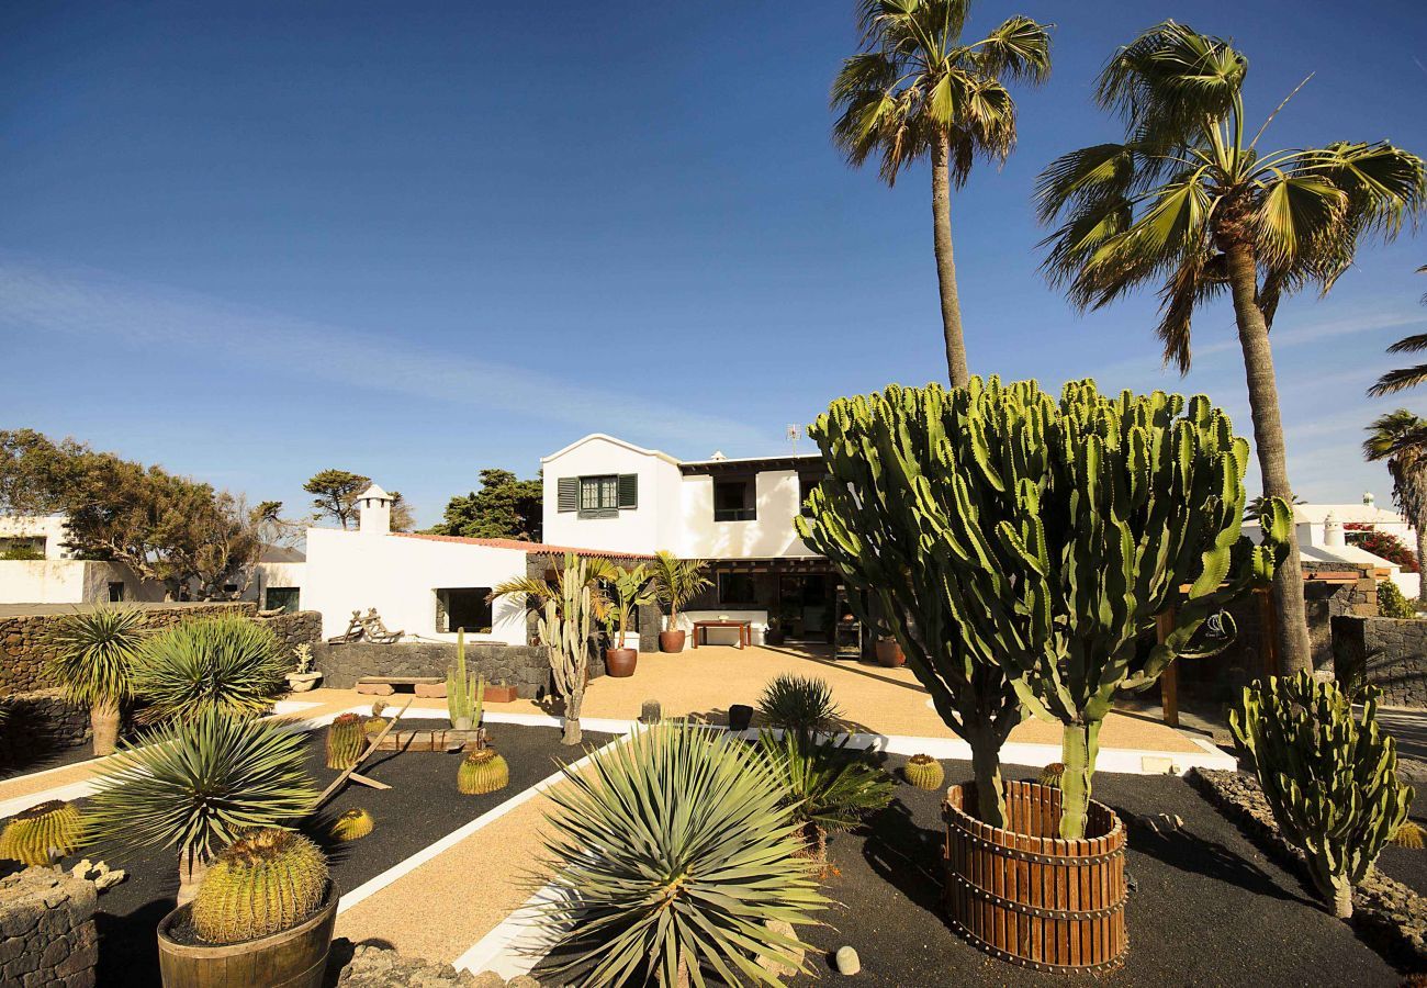
[[[337,922],[337,885],[328,884],[323,908],[280,934],[244,944],[178,944],[168,931],[188,924],[191,905],[180,905],[158,924],[158,969],[164,988],[321,988]]]

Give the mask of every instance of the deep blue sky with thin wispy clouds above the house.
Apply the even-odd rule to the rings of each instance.
[[[1160,370],[1154,301],[1079,316],[1036,270],[1036,173],[1113,137],[1090,103],[1163,17],[1233,36],[1270,147],[1427,154],[1416,0],[990,1],[1057,21],[1020,147],[953,200],[973,371],[1206,391],[1249,433],[1227,307]],[[838,395],[940,380],[925,170],[828,138],[852,4],[43,3],[0,10],[0,425],[304,507],[345,467],[421,523],[481,467],[609,431],[675,455],[786,448]],[[1386,500],[1367,400],[1427,331],[1427,244],[1370,247],[1274,331],[1290,474]],[[808,448],[806,441],[803,448]]]

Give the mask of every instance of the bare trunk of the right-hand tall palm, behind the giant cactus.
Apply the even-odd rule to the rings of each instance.
[[[1269,326],[1259,308],[1259,280],[1253,250],[1239,236],[1223,238],[1229,261],[1229,288],[1234,298],[1239,346],[1244,351],[1249,383],[1249,411],[1253,415],[1254,447],[1263,493],[1281,497],[1293,507],[1289,467],[1284,460],[1283,420],[1279,415],[1279,385],[1273,374]],[[1299,558],[1299,527],[1289,525],[1289,555],[1273,578],[1273,603],[1279,611],[1279,668],[1283,675],[1313,670],[1309,618],[1303,604],[1303,564]]]

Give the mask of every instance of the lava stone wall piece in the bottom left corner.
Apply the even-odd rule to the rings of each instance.
[[[0,878],[0,985],[91,988],[94,882],[51,868]]]

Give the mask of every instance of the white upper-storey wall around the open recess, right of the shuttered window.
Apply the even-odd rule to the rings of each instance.
[[[793,530],[802,507],[796,471],[763,471],[753,478],[753,521],[714,521],[714,478],[685,477],[684,537],[675,553],[701,560],[816,555]]]

